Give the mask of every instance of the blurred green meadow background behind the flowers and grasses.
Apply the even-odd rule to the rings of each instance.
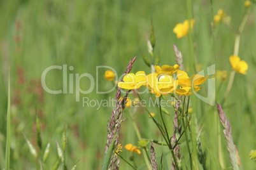
[[[231,71],[229,56],[234,50],[235,32],[245,13],[244,1],[193,1],[194,56],[202,69],[216,63],[217,70]],[[238,147],[244,169],[254,169],[255,162],[250,160],[250,150],[256,149],[255,125],[255,65],[256,65],[256,18],[252,6],[246,22],[239,56],[248,65],[246,75],[236,74],[231,93],[224,106],[227,118],[231,122],[232,136]],[[231,16],[231,25],[219,23],[212,30],[213,15],[218,9],[224,9]],[[106,143],[106,124],[113,107],[83,107],[82,98],[104,100],[115,97],[115,91],[97,94],[96,88],[88,95],[80,95],[75,101],[75,93],[52,95],[41,86],[41,74],[52,65],[73,66],[68,74],[89,73],[96,82],[96,66],[113,67],[118,76],[122,75],[129,60],[138,56],[132,72],[150,69],[145,65],[142,53],[148,55],[146,41],[150,36],[150,25],[155,30],[155,55],[160,56],[160,65],[174,65],[173,44],[183,54],[185,67],[189,69],[188,39],[177,39],[173,33],[176,23],[187,19],[186,1],[0,1],[0,57],[1,57],[1,98],[0,98],[0,169],[4,169],[6,143],[6,110],[8,98],[8,70],[11,79],[11,169],[36,169],[37,161],[29,154],[29,148],[22,132],[36,146],[36,113],[41,122],[43,148],[50,140],[50,155],[45,162],[45,169],[52,169],[57,158],[55,141],[61,143],[61,134],[66,129],[68,149],[67,165],[71,168],[78,160],[76,169],[101,169]],[[104,71],[99,70],[98,86],[100,91],[113,87],[104,79]],[[205,70],[206,71],[206,70]],[[69,76],[68,76],[69,78]],[[62,89],[62,70],[52,70],[46,78],[49,88]],[[69,80],[69,79],[68,79]],[[220,82],[217,79],[216,86]],[[74,84],[75,85],[75,84]],[[227,81],[218,91],[217,102],[225,92]],[[80,87],[90,88],[89,79],[83,78]],[[69,86],[68,86],[69,88]],[[145,95],[147,99],[150,95]],[[135,96],[131,95],[131,98]],[[198,100],[194,98],[194,100]],[[154,108],[151,108],[154,111]],[[133,107],[125,112],[132,112]],[[207,164],[210,169],[221,169],[216,138],[218,115],[215,107],[197,101],[196,117],[203,126],[201,140],[207,150]],[[210,110],[210,111],[209,111]],[[153,112],[152,111],[152,112]],[[144,138],[157,139],[157,128],[138,109],[139,129]],[[173,110],[170,109],[169,128],[172,129]],[[127,115],[124,114],[124,117]],[[128,118],[128,117],[127,117]],[[222,129],[222,128],[221,128]],[[131,121],[127,119],[121,129],[121,143],[137,145]],[[220,131],[225,167],[230,166],[226,143]],[[183,142],[184,140],[182,140]],[[157,152],[160,156],[161,148]],[[37,148],[38,149],[38,148]],[[156,149],[157,150],[157,149]],[[181,147],[183,152],[186,148]],[[122,154],[129,158],[130,153],[123,149]],[[188,161],[188,157],[184,156]],[[143,166],[141,155],[136,157]],[[168,162],[169,160],[167,160]],[[170,163],[170,162],[169,162]],[[199,166],[200,167],[200,166]],[[201,167],[200,167],[201,168]],[[120,169],[129,169],[121,162]]]

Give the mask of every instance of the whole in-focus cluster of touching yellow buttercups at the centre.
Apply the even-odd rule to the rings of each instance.
[[[118,87],[122,89],[138,89],[141,86],[146,86],[150,89],[150,93],[157,97],[161,95],[176,95],[189,96],[192,93],[199,91],[200,84],[203,84],[208,77],[202,75],[192,75],[188,77],[187,73],[179,70],[179,65],[155,66],[156,72],[146,75],[145,72],[139,71],[136,74],[130,73],[124,76],[124,82],[118,82]],[[176,73],[178,79],[174,79],[173,74]],[[177,88],[180,85],[180,88]]]

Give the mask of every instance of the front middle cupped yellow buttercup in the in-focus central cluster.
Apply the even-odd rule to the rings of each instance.
[[[150,89],[150,93],[155,94],[157,97],[172,93],[178,86],[178,81],[174,81],[171,75],[162,75],[160,77],[157,77],[157,75],[157,73],[147,75],[147,88]]]

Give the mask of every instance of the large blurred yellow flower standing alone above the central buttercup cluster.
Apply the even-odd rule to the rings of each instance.
[[[190,20],[190,29],[193,29],[195,20]],[[189,30],[189,21],[185,20],[183,23],[178,23],[174,29],[173,32],[176,34],[177,38],[181,38],[184,36],[187,36]]]

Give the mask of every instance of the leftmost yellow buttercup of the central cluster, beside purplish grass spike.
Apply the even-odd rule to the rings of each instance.
[[[122,89],[138,89],[146,85],[145,72],[130,73],[124,76],[124,82],[118,82],[118,87]]]

